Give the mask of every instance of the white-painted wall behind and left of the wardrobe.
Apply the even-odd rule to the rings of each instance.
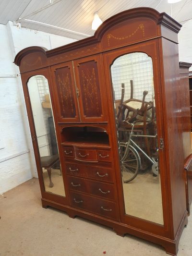
[[[0,24],[0,194],[37,177],[23,90],[15,55],[29,46],[53,49],[71,38]]]

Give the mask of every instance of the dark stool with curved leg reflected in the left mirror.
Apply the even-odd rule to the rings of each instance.
[[[59,155],[41,157],[41,167],[48,171],[49,187],[53,187],[54,184],[51,181],[51,169],[52,166],[59,161]]]

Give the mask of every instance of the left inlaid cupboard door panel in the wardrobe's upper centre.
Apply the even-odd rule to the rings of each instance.
[[[72,62],[51,67],[59,122],[79,122]]]

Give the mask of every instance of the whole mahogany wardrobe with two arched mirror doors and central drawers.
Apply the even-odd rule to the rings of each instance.
[[[188,214],[180,28],[166,13],[135,8],[106,20],[93,37],[29,47],[14,60],[42,206],[160,244],[170,255]],[[59,154],[51,150],[51,116]]]

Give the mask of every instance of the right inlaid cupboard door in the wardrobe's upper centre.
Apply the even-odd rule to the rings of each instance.
[[[82,122],[106,120],[104,74],[101,55],[74,61],[74,73],[79,92],[79,107]]]

